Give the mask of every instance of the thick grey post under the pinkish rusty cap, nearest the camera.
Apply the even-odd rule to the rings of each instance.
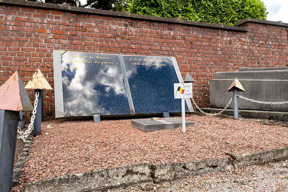
[[[19,111],[4,110],[1,116],[0,192],[10,192],[12,185]]]

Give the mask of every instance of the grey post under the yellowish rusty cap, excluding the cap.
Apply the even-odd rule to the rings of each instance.
[[[43,90],[40,90],[40,89],[35,89],[34,90],[34,93],[35,93],[35,96],[34,96],[34,100],[36,98],[36,92],[39,93],[39,96],[38,96],[38,104],[37,104],[37,107],[36,107],[36,113],[35,113],[35,119],[34,119],[34,135],[39,135],[40,132],[41,132],[41,120],[42,120],[42,102],[43,102]]]

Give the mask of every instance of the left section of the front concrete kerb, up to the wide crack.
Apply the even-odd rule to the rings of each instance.
[[[151,163],[124,165],[77,174],[69,174],[24,185],[25,191],[106,191],[108,189],[153,189]]]

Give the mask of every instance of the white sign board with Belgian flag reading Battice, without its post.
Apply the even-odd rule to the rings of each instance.
[[[174,83],[174,99],[192,98],[192,83]]]

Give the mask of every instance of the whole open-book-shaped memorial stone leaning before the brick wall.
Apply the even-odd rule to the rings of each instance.
[[[56,118],[181,112],[173,57],[53,51],[53,58]],[[186,109],[194,112],[190,99]]]

